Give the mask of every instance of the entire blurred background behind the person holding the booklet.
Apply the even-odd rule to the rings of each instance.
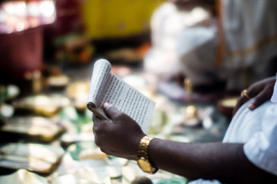
[[[187,183],[94,145],[93,64],[157,104],[149,134],[222,141],[240,91],[277,71],[274,0],[0,1],[0,183]],[[24,179],[25,178],[28,179]]]

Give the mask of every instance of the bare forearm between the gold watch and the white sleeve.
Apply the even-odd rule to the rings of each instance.
[[[149,154],[155,167],[186,178],[259,183],[271,176],[249,162],[243,144],[239,143],[183,143],[154,139]]]

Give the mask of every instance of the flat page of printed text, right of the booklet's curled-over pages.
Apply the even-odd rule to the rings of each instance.
[[[105,84],[105,91],[103,91],[96,105],[100,113],[104,113],[100,107],[105,102],[109,102],[119,111],[126,113],[141,126],[145,134],[148,133],[155,102],[132,86],[129,86],[113,73],[110,73]]]

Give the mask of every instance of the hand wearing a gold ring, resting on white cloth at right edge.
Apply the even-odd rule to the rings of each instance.
[[[256,82],[249,86],[247,89],[247,95],[249,98],[253,98],[253,102],[251,102],[248,105],[248,108],[250,110],[256,109],[260,106],[263,102],[269,100],[271,98],[271,95],[274,91],[274,84],[276,82],[276,77],[269,77],[265,80],[262,80],[260,82]],[[244,104],[244,102],[247,102],[249,100],[247,96],[243,95],[238,99],[237,104],[235,105],[233,109],[233,116],[238,111],[238,109]]]

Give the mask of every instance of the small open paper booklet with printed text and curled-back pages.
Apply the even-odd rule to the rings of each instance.
[[[111,64],[99,59],[93,67],[87,108],[108,120],[102,104],[108,102],[135,120],[145,134],[148,133],[155,102],[111,73]]]

